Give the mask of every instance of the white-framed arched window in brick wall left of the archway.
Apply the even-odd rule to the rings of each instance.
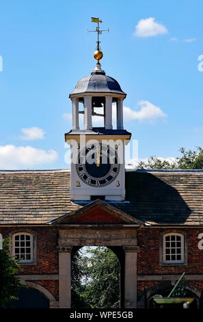
[[[33,262],[33,234],[18,232],[12,236],[12,255],[20,263]]]

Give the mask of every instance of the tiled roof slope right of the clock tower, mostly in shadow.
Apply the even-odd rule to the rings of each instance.
[[[147,223],[203,224],[203,171],[126,172],[126,200],[125,211]]]

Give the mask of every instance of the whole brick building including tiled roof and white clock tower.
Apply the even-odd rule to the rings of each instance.
[[[23,258],[19,274],[29,286],[22,290],[23,306],[70,308],[71,256],[87,245],[107,246],[118,256],[122,308],[144,307],[146,301],[150,306],[154,295],[168,295],[183,272],[187,295],[201,306],[203,173],[125,171],[124,145],[131,138],[123,128],[125,97],[98,60],[70,94],[72,129],[65,139],[77,156],[70,171],[0,171],[0,234],[12,238],[10,251]],[[104,126],[94,127],[93,116],[103,117]],[[113,142],[113,162],[103,140]],[[92,145],[96,161],[88,164]]]

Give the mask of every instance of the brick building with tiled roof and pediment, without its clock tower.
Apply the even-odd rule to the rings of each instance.
[[[96,200],[81,206],[70,201],[70,171],[1,171],[0,232],[3,238],[11,236],[14,245],[16,236],[24,236],[21,242],[25,243],[29,237],[21,280],[49,299],[51,308],[59,306],[60,280],[63,287],[59,256],[70,256],[72,249],[84,245],[105,245],[118,255],[123,306],[128,252],[137,254],[137,268],[136,261],[130,262],[136,268],[137,306],[144,306],[144,288],[150,305],[151,297],[168,293],[184,271],[187,290],[199,305],[203,288],[203,250],[198,247],[203,232],[202,186],[202,171],[126,171],[128,202]],[[167,236],[171,236],[169,247],[165,245]],[[167,258],[167,248],[175,249],[176,257]],[[16,254],[15,250],[18,247],[11,251]]]

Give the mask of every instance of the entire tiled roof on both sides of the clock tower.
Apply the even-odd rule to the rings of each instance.
[[[81,208],[69,192],[68,170],[0,171],[0,224],[45,224]],[[112,205],[151,225],[203,225],[203,171],[126,171],[126,202]]]

